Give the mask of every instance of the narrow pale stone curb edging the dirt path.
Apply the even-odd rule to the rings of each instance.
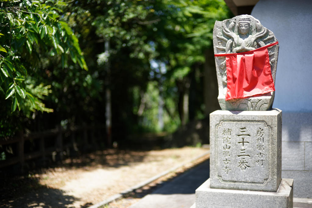
[[[199,158],[206,156],[207,154],[210,154],[210,150],[208,150],[207,152],[204,152],[203,154],[201,154],[201,155],[199,155],[197,157],[194,157],[194,158],[188,160],[187,162],[184,162],[181,165],[178,165],[178,166],[175,166],[173,168],[170,168],[169,170],[164,171],[162,173],[159,173],[158,175],[156,175],[154,177],[151,177],[151,178],[149,178],[146,181],[143,181],[143,182],[141,182],[141,183],[139,183],[139,184],[137,184],[135,186],[132,186],[129,189],[122,191],[119,194],[115,194],[114,196],[111,196],[111,197],[109,197],[108,199],[106,199],[104,201],[100,201],[99,203],[97,203],[95,205],[89,206],[88,208],[101,208],[101,207],[104,207],[105,205],[109,204],[110,202],[116,201],[116,200],[122,198],[124,194],[132,192],[132,191],[134,191],[136,189],[142,188],[143,186],[146,186],[147,184],[157,180],[158,178],[163,177],[163,176],[167,175],[170,172],[174,172],[178,168],[183,167],[183,166],[187,165],[188,163],[194,162],[194,161],[198,160]]]

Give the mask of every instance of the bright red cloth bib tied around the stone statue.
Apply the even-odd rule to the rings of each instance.
[[[215,56],[226,56],[225,100],[275,91],[267,48],[276,44],[278,42],[242,53],[215,54]]]

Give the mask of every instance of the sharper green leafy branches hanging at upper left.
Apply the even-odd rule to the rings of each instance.
[[[4,5],[3,5],[4,4]],[[7,1],[0,9],[1,92],[26,115],[35,110],[52,112],[42,102],[51,93],[51,85],[40,83],[41,63],[57,56],[62,66],[68,57],[87,70],[77,37],[66,22],[60,21],[64,2]]]

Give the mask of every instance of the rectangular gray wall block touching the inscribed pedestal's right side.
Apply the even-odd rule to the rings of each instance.
[[[282,142],[283,170],[305,169],[305,143],[304,142]]]

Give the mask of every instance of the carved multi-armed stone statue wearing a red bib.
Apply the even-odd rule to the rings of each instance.
[[[279,50],[273,32],[254,17],[240,15],[215,22],[213,46],[221,109],[271,109]]]

